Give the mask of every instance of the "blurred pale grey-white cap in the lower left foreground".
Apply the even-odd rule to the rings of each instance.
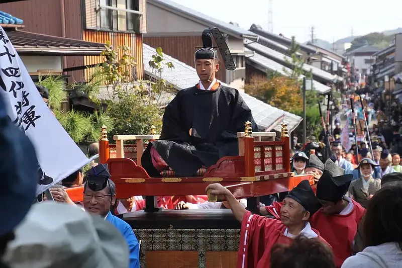
[[[4,260],[13,268],[127,268],[126,240],[112,224],[69,204],[35,204]]]

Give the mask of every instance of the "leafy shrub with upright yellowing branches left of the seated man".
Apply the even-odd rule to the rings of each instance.
[[[173,63],[165,60],[162,49],[158,47],[148,62],[152,68],[149,80],[132,81],[132,68],[136,62],[130,49],[122,46],[114,50],[110,44],[106,47],[103,53],[106,61],[101,67],[110,97],[108,114],[114,122],[114,129],[109,131],[110,142],[114,142],[112,137],[117,134],[150,134],[152,126],[160,131],[163,114],[159,109],[160,102],[172,90],[162,73],[165,68],[174,68]],[[119,54],[123,56],[119,58]]]

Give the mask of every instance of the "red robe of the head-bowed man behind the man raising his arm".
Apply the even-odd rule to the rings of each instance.
[[[322,237],[331,245],[334,252],[335,264],[338,268],[346,258],[352,255],[352,243],[357,232],[357,227],[366,210],[359,203],[352,200],[353,210],[347,215],[326,216],[317,211],[310,219],[311,227],[318,230]],[[265,209],[276,219],[280,219],[282,202],[274,202]],[[275,213],[276,212],[276,213]]]

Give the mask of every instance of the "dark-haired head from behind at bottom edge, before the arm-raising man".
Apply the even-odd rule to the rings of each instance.
[[[270,268],[335,268],[331,249],[317,238],[298,236],[290,245],[276,244],[271,250]]]

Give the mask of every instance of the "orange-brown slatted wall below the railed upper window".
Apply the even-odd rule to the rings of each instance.
[[[142,55],[142,35],[130,34],[130,33],[112,33],[112,32],[100,32],[93,30],[84,30],[83,40],[96,43],[110,42],[112,46],[117,49],[119,46],[130,47],[131,54],[135,57],[137,62],[137,77],[142,79],[144,73],[143,55]],[[122,56],[122,51],[119,51]],[[102,56],[85,56],[84,65],[100,64],[105,59]],[[85,77],[90,74],[90,69],[85,70]]]

